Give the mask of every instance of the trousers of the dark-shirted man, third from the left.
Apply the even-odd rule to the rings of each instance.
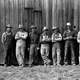
[[[31,44],[30,45],[30,53],[29,53],[29,65],[32,65],[33,61],[38,58],[38,51],[37,51],[37,44]]]

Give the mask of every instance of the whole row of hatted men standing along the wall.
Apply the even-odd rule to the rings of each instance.
[[[74,52],[74,44],[73,39],[76,39],[78,43],[80,43],[80,32],[75,30],[71,30],[71,23],[67,22],[66,24],[66,31],[64,31],[63,35],[60,33],[59,28],[56,26],[52,27],[52,35],[49,35],[49,29],[44,27],[42,30],[42,34],[38,34],[37,27],[31,26],[31,32],[28,34],[27,31],[24,30],[23,25],[19,25],[19,31],[15,34],[16,40],[16,59],[18,61],[19,66],[24,66],[24,57],[25,57],[25,50],[26,50],[26,39],[28,36],[30,37],[30,46],[28,47],[29,50],[29,66],[32,66],[34,59],[37,60],[38,58],[38,50],[40,49],[41,57],[44,62],[44,65],[49,65],[51,60],[49,59],[49,43],[52,44],[52,60],[53,65],[60,65],[61,60],[61,45],[60,41],[65,41],[64,47],[64,64],[68,64],[68,49],[71,49],[71,63],[72,65],[75,64],[75,52]],[[11,49],[11,40],[13,37],[12,27],[9,25],[6,26],[6,31],[2,34],[1,41],[4,46],[5,54],[7,55],[7,51]],[[27,43],[28,45],[29,43]],[[27,54],[27,53],[26,53]],[[5,55],[5,58],[6,58]],[[6,60],[5,60],[6,65]]]

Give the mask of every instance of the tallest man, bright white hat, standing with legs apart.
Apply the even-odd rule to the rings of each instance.
[[[63,34],[63,39],[65,40],[65,55],[64,55],[64,61],[65,65],[68,64],[68,50],[70,48],[71,50],[71,64],[75,65],[75,53],[74,53],[74,47],[73,47],[73,35],[71,28],[71,23],[67,22],[67,30]]]

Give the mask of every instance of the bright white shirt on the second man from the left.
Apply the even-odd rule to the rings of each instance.
[[[21,45],[26,45],[26,38],[28,37],[28,33],[27,32],[21,32],[18,31],[15,35],[15,39],[17,40],[17,46],[21,46]]]

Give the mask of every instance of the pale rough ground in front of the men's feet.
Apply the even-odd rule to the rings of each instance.
[[[0,67],[0,80],[80,80],[80,66]]]

